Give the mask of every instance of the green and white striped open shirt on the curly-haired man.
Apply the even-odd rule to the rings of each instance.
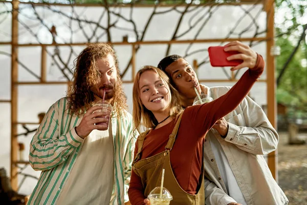
[[[128,201],[128,186],[138,133],[133,132],[131,115],[126,112],[112,117],[114,145],[114,190],[110,204]],[[71,114],[67,98],[59,99],[48,110],[30,145],[29,161],[36,171],[42,171],[28,204],[56,204],[70,171],[78,158],[83,139],[75,131],[82,115]],[[93,165],[94,166],[94,165]],[[84,190],[84,194],[87,191]]]

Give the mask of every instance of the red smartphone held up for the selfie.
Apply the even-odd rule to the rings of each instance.
[[[227,60],[228,56],[238,54],[237,51],[224,51],[225,46],[210,46],[208,48],[210,64],[213,67],[234,67],[243,63],[243,60]]]

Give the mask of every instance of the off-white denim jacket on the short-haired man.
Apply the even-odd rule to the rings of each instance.
[[[202,86],[203,93],[213,99],[224,95],[230,87]],[[206,204],[226,205],[236,202],[231,198],[218,171],[210,146],[210,138],[216,137],[225,152],[231,170],[247,204],[288,204],[288,199],[274,180],[265,160],[277,148],[278,134],[264,111],[250,98],[245,99],[224,117],[229,125],[225,139],[211,129],[204,144]],[[238,201],[239,202],[239,201]]]

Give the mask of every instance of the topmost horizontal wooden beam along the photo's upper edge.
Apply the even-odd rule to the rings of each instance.
[[[264,0],[262,0],[264,1]],[[240,6],[240,5],[254,5],[254,4],[261,4],[262,1],[256,1],[256,0],[251,0],[251,1],[240,1],[240,2],[233,2],[233,3],[202,3],[202,4],[192,4],[190,5],[190,7],[194,7],[194,6]],[[49,4],[49,3],[33,3],[33,2],[20,2],[20,4],[31,4],[33,6],[63,6],[63,7],[104,7],[103,4],[60,4],[60,3],[53,3],[53,4]],[[186,4],[187,5],[187,4]],[[159,4],[158,7],[186,7],[186,5],[182,5],[182,4]],[[133,4],[132,5],[134,8],[137,7],[154,7],[156,6],[155,4]],[[109,4],[108,7],[131,7],[131,4]]]

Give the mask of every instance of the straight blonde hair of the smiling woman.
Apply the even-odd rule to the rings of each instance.
[[[143,121],[143,126],[145,128],[153,128],[156,127],[158,121],[156,117],[152,114],[150,110],[148,110],[141,101],[140,98],[140,77],[146,71],[153,71],[159,75],[163,83],[169,88],[171,100],[170,100],[170,115],[177,116],[183,110],[179,101],[179,93],[172,85],[169,83],[168,76],[161,71],[160,69],[153,66],[144,66],[141,70],[138,71],[135,77],[135,81],[133,84],[133,121],[135,125],[135,130],[141,130],[141,122]]]

